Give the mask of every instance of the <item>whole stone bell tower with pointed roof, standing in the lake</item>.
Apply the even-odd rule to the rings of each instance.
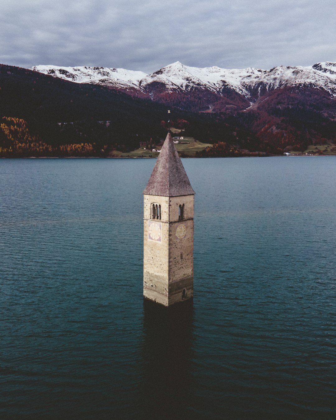
[[[144,194],[144,297],[165,306],[193,295],[194,190],[168,132]]]

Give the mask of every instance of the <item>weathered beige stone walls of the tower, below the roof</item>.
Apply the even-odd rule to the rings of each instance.
[[[152,203],[161,205],[161,220],[155,220],[161,226],[161,241],[148,238],[148,221],[154,221]],[[179,205],[183,204],[184,218],[178,220]],[[144,195],[144,297],[165,306],[192,297],[193,217],[193,195]]]

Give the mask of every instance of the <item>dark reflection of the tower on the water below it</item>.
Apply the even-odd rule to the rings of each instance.
[[[192,418],[193,299],[171,307],[144,299],[142,418]]]

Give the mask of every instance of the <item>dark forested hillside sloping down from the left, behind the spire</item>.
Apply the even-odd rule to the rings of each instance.
[[[234,120],[218,115],[189,113],[108,87],[13,66],[0,65],[0,89],[2,156],[107,156],[113,149],[132,150],[150,139],[160,143],[168,118],[171,126],[187,121],[189,132],[204,142],[232,137],[237,129]],[[27,129],[29,141],[22,137]],[[39,142],[47,147],[27,147]]]

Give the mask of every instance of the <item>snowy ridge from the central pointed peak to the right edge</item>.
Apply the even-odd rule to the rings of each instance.
[[[222,93],[230,87],[247,99],[260,96],[262,92],[284,86],[314,85],[336,94],[336,63],[318,63],[308,67],[278,66],[270,70],[258,68],[225,69],[219,67],[197,68],[184,66],[180,62],[163,67],[140,81],[142,88],[163,83],[170,90],[189,91],[205,88]]]

